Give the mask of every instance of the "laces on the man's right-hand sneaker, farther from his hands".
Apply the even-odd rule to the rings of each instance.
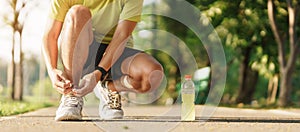
[[[108,99],[109,99],[109,102],[108,102],[109,108],[118,109],[118,110],[121,109],[121,107],[122,107],[121,96],[118,92],[116,92],[116,91],[112,92],[111,90],[109,90]]]

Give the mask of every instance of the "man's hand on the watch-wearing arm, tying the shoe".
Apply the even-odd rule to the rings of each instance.
[[[96,75],[94,72],[87,74],[80,80],[78,88],[73,89],[73,94],[82,97],[92,92],[97,85]]]

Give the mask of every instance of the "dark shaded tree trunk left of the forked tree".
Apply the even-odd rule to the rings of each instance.
[[[258,72],[253,71],[249,66],[251,47],[246,48],[244,51],[244,60],[240,67],[240,85],[236,103],[249,104],[251,103],[253,94],[255,92],[255,87],[258,80]]]

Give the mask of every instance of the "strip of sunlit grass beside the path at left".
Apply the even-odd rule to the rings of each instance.
[[[0,117],[22,114],[50,106],[54,106],[54,103],[31,101],[31,99],[27,99],[26,101],[13,101],[10,99],[1,98]]]

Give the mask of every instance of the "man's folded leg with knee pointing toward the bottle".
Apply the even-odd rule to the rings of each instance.
[[[157,89],[164,76],[160,63],[146,53],[137,53],[126,58],[122,62],[121,70],[124,75],[109,83],[110,89],[145,93]]]

